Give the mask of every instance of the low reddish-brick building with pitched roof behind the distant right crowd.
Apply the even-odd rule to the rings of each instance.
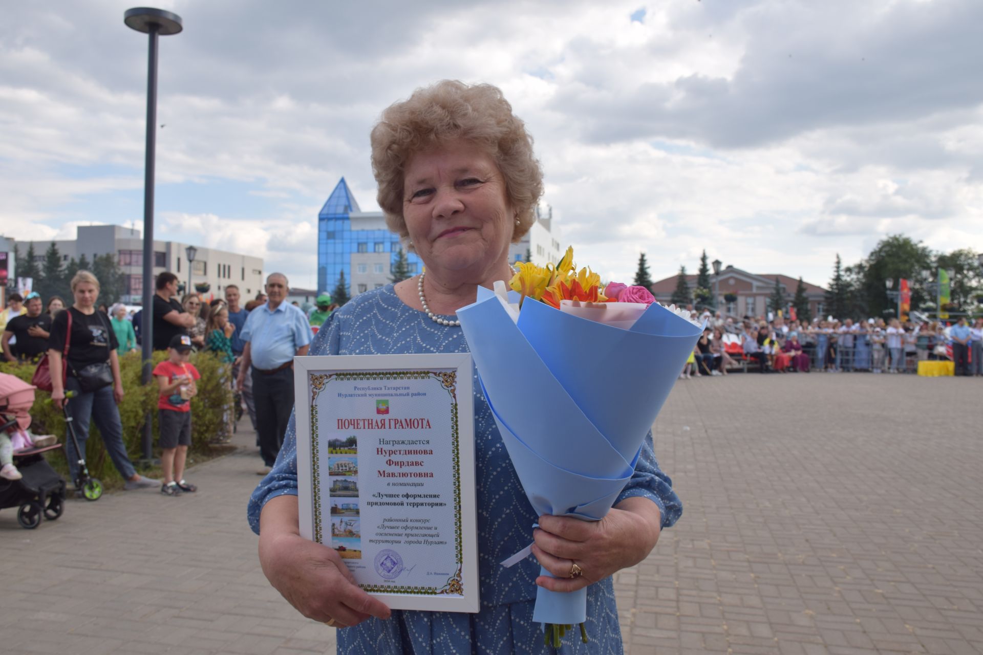
[[[690,292],[696,288],[696,275],[687,275],[686,283]],[[748,273],[733,266],[727,266],[721,271],[720,279],[710,275],[710,290],[718,296],[716,305],[725,310],[729,316],[764,316],[768,313],[768,299],[775,292],[775,280],[784,288],[785,300],[791,304],[798,287],[798,278],[781,275],[781,273]],[[803,281],[805,295],[809,299],[809,311],[813,316],[822,316],[826,290],[814,284]],[[660,302],[667,303],[675,290],[676,276],[665,278],[652,285],[652,293]],[[726,302],[724,296],[734,294],[737,300]]]

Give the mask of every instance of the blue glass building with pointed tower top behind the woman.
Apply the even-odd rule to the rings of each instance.
[[[318,293],[330,294],[342,272],[351,296],[384,285],[399,246],[382,212],[363,212],[341,178],[318,213]],[[420,259],[406,256],[410,272],[419,272]]]

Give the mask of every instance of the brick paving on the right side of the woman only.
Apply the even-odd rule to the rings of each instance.
[[[625,652],[983,653],[983,380],[680,381],[682,519],[617,574]]]

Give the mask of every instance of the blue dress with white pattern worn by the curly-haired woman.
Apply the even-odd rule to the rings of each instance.
[[[311,347],[311,355],[467,351],[461,328],[437,325],[427,314],[399,300],[392,285],[360,294],[331,314]],[[557,651],[543,644],[542,627],[532,620],[539,565],[533,558],[527,558],[511,569],[498,564],[530,543],[531,526],[537,516],[508,459],[492,412],[481,395],[477,375],[475,442],[482,611],[478,614],[393,611],[388,621],[371,618],[355,628],[338,630],[339,655],[621,653],[621,630],[610,577],[588,588],[590,643],[582,643],[574,630],[576,638],[568,634]],[[297,442],[293,416],[276,464],[250,499],[249,522],[254,531],[260,531],[260,511],[266,501],[284,494],[297,494]],[[659,506],[663,527],[672,525],[682,514],[682,505],[672,491],[671,480],[656,462],[651,434],[642,447],[635,474],[618,502],[634,496],[643,496]]]

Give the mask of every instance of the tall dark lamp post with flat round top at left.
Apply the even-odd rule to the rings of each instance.
[[[183,28],[181,17],[150,7],[128,9],[123,14],[127,27],[142,31],[149,37],[146,64],[146,160],[144,171],[144,307],[141,338],[143,344],[144,384],[150,383],[153,356],[153,164],[157,127],[157,36],[176,34]],[[153,458],[153,434],[149,414],[144,421],[144,459]]]

